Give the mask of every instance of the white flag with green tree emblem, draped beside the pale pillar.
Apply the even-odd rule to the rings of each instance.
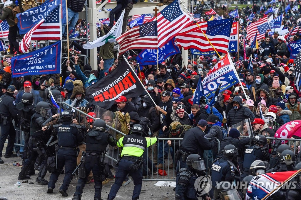
[[[125,10],[121,13],[119,19],[115,23],[115,25],[112,27],[112,29],[104,36],[97,38],[96,40],[93,40],[92,42],[87,42],[87,44],[84,44],[82,47],[84,49],[93,49],[96,47],[100,47],[108,42],[115,42],[116,38],[121,35],[122,31],[122,22],[123,22],[123,16],[124,16]]]

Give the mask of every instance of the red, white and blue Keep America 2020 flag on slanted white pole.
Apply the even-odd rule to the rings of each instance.
[[[219,62],[210,69],[206,77],[203,79],[202,84],[204,95],[207,98],[213,97],[220,83],[222,83],[222,85],[219,92],[239,83],[239,78],[235,72],[236,70],[233,66],[230,55],[227,53],[224,58],[220,59]]]

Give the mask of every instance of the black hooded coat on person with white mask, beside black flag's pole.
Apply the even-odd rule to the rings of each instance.
[[[149,96],[145,96],[141,99],[141,104],[142,102],[146,103],[146,108],[143,108],[141,106],[138,109],[138,114],[140,117],[147,117],[151,121],[151,125],[153,128],[153,132],[156,132],[159,130],[159,125],[160,125],[160,120],[159,120],[159,115],[157,115],[157,112],[153,106],[153,102]]]

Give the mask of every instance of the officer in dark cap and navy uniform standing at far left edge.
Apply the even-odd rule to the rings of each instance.
[[[16,131],[12,120],[15,120],[15,124],[18,123],[16,101],[14,98],[14,92],[16,87],[14,85],[8,86],[4,95],[0,96],[0,152],[2,152],[4,143],[8,138],[8,144],[5,151],[5,158],[17,157],[17,154],[13,154],[14,142],[16,138]],[[8,137],[9,136],[9,137]],[[0,164],[4,163],[1,159],[2,153],[0,154]]]

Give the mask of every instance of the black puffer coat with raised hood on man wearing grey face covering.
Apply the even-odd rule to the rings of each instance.
[[[237,124],[237,123],[241,122],[242,120],[245,120],[248,118],[250,118],[251,122],[253,122],[253,120],[255,119],[255,116],[249,108],[243,106],[241,98],[239,96],[235,96],[233,101],[239,102],[240,106],[237,110],[234,110],[234,108],[232,108],[229,111],[228,116],[227,116],[228,127],[230,127],[234,124]]]

